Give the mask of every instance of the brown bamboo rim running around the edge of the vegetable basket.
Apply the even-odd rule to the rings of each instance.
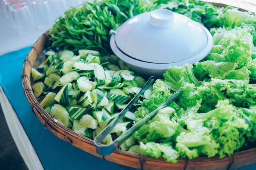
[[[221,3],[212,3],[213,5],[216,5],[218,7],[225,7],[227,5],[225,4],[221,4]],[[246,11],[244,9],[240,9],[241,11]],[[54,121],[54,119],[43,109],[43,107],[38,103],[38,101],[36,100],[36,98],[34,97],[34,94],[32,92],[31,89],[31,79],[30,79],[30,75],[31,75],[31,68],[34,65],[33,60],[31,61],[31,58],[33,53],[36,53],[36,58],[40,55],[40,53],[43,51],[43,47],[47,41],[47,39],[49,38],[49,32],[45,32],[43,33],[40,38],[38,38],[38,40],[35,42],[35,44],[31,47],[31,49],[29,50],[29,53],[27,54],[23,66],[22,66],[22,88],[24,90],[25,96],[31,106],[31,110],[32,112],[36,115],[36,117],[40,120],[40,122],[52,133],[54,133],[54,135],[56,135],[57,137],[67,141],[68,143],[84,150],[85,152],[88,152],[92,155],[95,155],[97,157],[102,157],[103,159],[115,162],[115,163],[119,163],[125,166],[130,166],[130,164],[128,163],[124,163],[124,161],[119,162],[119,158],[121,158],[121,156],[123,156],[123,158],[121,158],[122,160],[124,159],[129,159],[132,158],[132,161],[137,162],[138,164],[132,164],[133,168],[141,168],[141,169],[148,169],[151,170],[152,165],[156,165],[158,167],[161,168],[177,168],[177,166],[180,167],[184,167],[184,169],[189,168],[189,165],[192,165],[191,167],[195,168],[196,165],[198,165],[198,163],[207,163],[207,164],[212,164],[212,163],[218,163],[223,165],[228,166],[228,168],[238,168],[241,166],[245,166],[245,165],[249,165],[251,163],[255,163],[256,162],[256,148],[251,148],[248,150],[243,150],[240,152],[235,152],[233,155],[231,156],[226,156],[223,158],[219,158],[218,156],[215,157],[197,157],[197,158],[193,158],[193,159],[188,159],[188,158],[178,158],[177,159],[177,163],[170,163],[167,162],[166,159],[159,157],[159,158],[154,158],[154,157],[150,157],[147,155],[140,155],[137,153],[133,153],[133,152],[128,152],[128,151],[124,151],[124,150],[115,150],[115,152],[113,152],[112,155],[110,156],[100,156],[97,155],[96,153],[96,149],[95,149],[95,145],[94,145],[94,141],[92,139],[89,139],[88,137],[85,137],[83,135],[80,135],[76,132],[74,132],[73,130],[71,130],[70,128],[67,128],[59,123],[56,123]],[[43,44],[43,45],[42,45]],[[79,144],[79,142],[83,142],[82,145]],[[90,148],[90,150],[86,150],[83,145],[87,144],[87,147],[92,147]],[[111,158],[112,156],[115,155],[115,158]],[[236,162],[236,159],[243,159],[244,161],[247,160],[247,158],[249,157],[253,157],[254,159],[252,161],[247,161],[245,164],[241,165],[238,163],[234,163]],[[146,163],[148,163],[148,166],[145,166]],[[177,166],[175,166],[177,165]],[[182,166],[181,166],[182,165]],[[201,167],[201,168],[206,168]],[[219,168],[219,169],[223,169]],[[227,168],[225,168],[227,169]]]

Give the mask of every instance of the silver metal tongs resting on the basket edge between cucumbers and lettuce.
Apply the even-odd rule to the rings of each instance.
[[[103,141],[103,139],[105,139],[105,137],[111,132],[111,130],[117,125],[117,123],[124,117],[124,115],[126,114],[126,112],[128,110],[130,110],[130,108],[132,107],[132,105],[137,101],[137,99],[139,99],[139,96],[142,95],[148,88],[149,86],[154,82],[154,77],[151,76],[148,81],[146,82],[146,84],[141,88],[141,91],[139,91],[139,93],[137,93],[137,95],[135,95],[135,97],[129,102],[129,104],[119,113],[119,115],[117,117],[115,117],[114,120],[112,120],[110,122],[110,124],[108,124],[108,126],[101,131],[95,138],[94,138],[94,144],[96,146],[96,151],[99,155],[110,155],[112,152],[114,152],[124,141],[126,141],[126,139],[128,139],[134,132],[136,132],[137,130],[139,130],[139,128],[141,126],[143,126],[144,124],[146,124],[150,119],[152,119],[157,112],[168,106],[173,100],[175,100],[177,97],[179,97],[182,94],[181,90],[178,90],[176,93],[173,93],[173,95],[171,95],[170,97],[168,97],[167,101],[165,103],[163,103],[161,106],[159,106],[158,108],[156,108],[153,112],[151,112],[150,114],[148,114],[146,117],[144,117],[143,119],[141,119],[137,124],[135,124],[134,126],[132,126],[130,129],[128,129],[126,132],[124,132],[122,135],[120,135],[119,137],[117,137],[117,139],[115,139],[111,144],[108,145],[103,145],[101,144],[101,142]]]

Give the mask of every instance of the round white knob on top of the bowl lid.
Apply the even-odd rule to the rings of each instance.
[[[157,27],[169,27],[172,25],[173,12],[168,9],[156,9],[150,13],[148,23]]]

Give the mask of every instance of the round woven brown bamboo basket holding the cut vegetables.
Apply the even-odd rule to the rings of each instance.
[[[218,7],[225,7],[225,4],[213,3]],[[246,11],[240,9],[240,11]],[[37,68],[38,65],[45,60],[45,55],[42,53],[45,43],[49,38],[49,33],[44,33],[32,46],[27,54],[23,68],[22,68],[22,86],[25,96],[31,105],[32,112],[40,120],[40,122],[54,135],[65,140],[69,144],[76,146],[85,152],[88,152],[97,157],[101,157],[105,160],[119,163],[125,166],[133,168],[139,168],[143,170],[229,170],[232,168],[238,168],[246,166],[256,162],[256,148],[245,150],[242,152],[236,152],[231,157],[199,157],[195,159],[179,158],[177,163],[166,162],[164,158],[153,158],[146,155],[140,155],[132,152],[127,152],[117,149],[109,156],[97,155],[94,142],[92,139],[80,135],[70,128],[66,128],[61,124],[58,124],[54,119],[43,109],[39,104],[39,101],[34,97],[31,86],[34,82],[30,78],[31,68]]]

